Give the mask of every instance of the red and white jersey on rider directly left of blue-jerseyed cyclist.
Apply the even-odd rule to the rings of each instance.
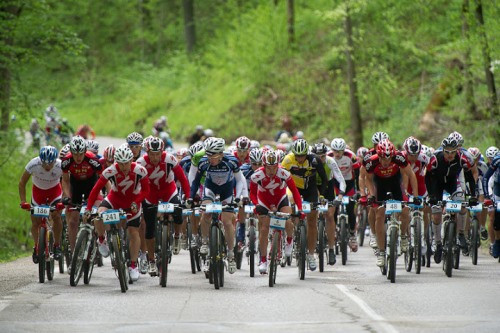
[[[189,182],[174,155],[163,152],[160,162],[153,165],[146,154],[137,160],[137,164],[147,170],[150,190],[146,199],[150,203],[157,203],[160,199],[169,201],[173,195],[176,195],[176,180],[181,183],[186,199],[189,198]]]

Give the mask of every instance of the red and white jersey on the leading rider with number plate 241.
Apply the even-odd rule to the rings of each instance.
[[[115,163],[102,172],[101,177],[90,192],[87,208],[91,209],[98,194],[107,182],[111,183],[111,191],[106,199],[113,205],[113,208],[129,208],[132,202],[139,205],[149,192],[149,179],[146,169],[132,162],[130,172],[124,174]]]

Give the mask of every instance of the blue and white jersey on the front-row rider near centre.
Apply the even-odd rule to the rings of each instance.
[[[204,156],[198,164],[198,172],[191,186],[191,195],[194,197],[196,190],[200,187],[201,178],[205,175],[205,188],[214,193],[227,192],[235,187],[234,174],[240,171],[238,159],[229,154],[224,154],[217,165],[211,165],[208,157]]]

